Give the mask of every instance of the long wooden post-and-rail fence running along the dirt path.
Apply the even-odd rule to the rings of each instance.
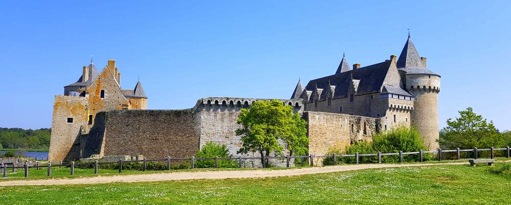
[[[99,166],[98,165],[102,165],[102,164],[118,164],[119,165],[119,173],[122,173],[122,169],[123,169],[123,163],[142,163],[143,165],[143,169],[142,171],[146,171],[147,169],[147,162],[166,162],[167,163],[167,169],[170,170],[171,169],[171,162],[174,161],[190,161],[191,163],[191,166],[190,168],[191,169],[194,169],[195,168],[195,164],[196,164],[196,161],[199,161],[199,160],[214,160],[215,161],[215,168],[218,168],[218,161],[219,160],[232,160],[232,161],[238,161],[238,164],[239,164],[239,168],[242,168],[243,165],[242,165],[242,162],[243,161],[246,161],[246,160],[261,160],[262,162],[265,162],[263,163],[263,168],[266,168],[267,167],[267,160],[269,159],[277,159],[277,160],[285,160],[286,161],[286,167],[289,167],[289,161],[291,159],[296,159],[296,158],[301,158],[301,159],[307,159],[309,160],[310,162],[310,165],[311,166],[314,166],[314,159],[318,159],[318,158],[330,158],[332,157],[333,158],[333,162],[334,162],[334,165],[337,163],[337,161],[339,160],[340,157],[355,157],[355,164],[359,164],[360,162],[360,158],[361,157],[367,157],[367,156],[377,156],[378,157],[378,163],[382,163],[382,156],[391,156],[391,155],[399,155],[399,162],[400,163],[403,163],[404,160],[404,155],[411,155],[411,154],[419,154],[419,157],[420,157],[420,162],[424,162],[424,154],[425,153],[436,153],[437,154],[437,160],[438,161],[442,161],[442,157],[443,157],[443,153],[449,153],[449,152],[456,152],[456,160],[460,160],[461,159],[461,152],[472,152],[472,156],[471,158],[475,158],[477,159],[478,158],[478,152],[480,151],[490,151],[490,158],[494,158],[495,156],[495,151],[504,151],[504,155],[506,157],[509,157],[509,154],[510,154],[510,149],[509,149],[509,146],[505,147],[505,148],[485,148],[485,149],[478,149],[476,147],[474,147],[474,149],[459,149],[459,148],[456,148],[456,149],[450,149],[450,150],[442,150],[442,149],[437,149],[437,150],[428,150],[428,151],[423,151],[423,150],[419,150],[419,151],[416,151],[416,152],[402,152],[402,151],[399,151],[399,152],[394,152],[394,153],[364,153],[364,154],[361,154],[361,153],[355,153],[355,154],[333,154],[333,155],[313,155],[313,154],[309,154],[309,155],[306,155],[306,156],[262,156],[262,157],[242,157],[242,156],[233,156],[233,157],[218,157],[216,156],[215,158],[196,158],[195,156],[191,156],[190,158],[171,158],[170,156],[167,157],[167,158],[156,158],[156,159],[152,159],[152,160],[147,160],[146,158],[143,158],[143,160],[129,160],[129,161],[123,161],[122,159],[119,159],[119,161],[111,161],[111,162],[98,162],[98,161],[92,161],[92,162],[84,162],[84,163],[79,163],[79,164],[75,164],[75,162],[67,162],[67,163],[63,163],[62,161],[60,162],[35,162],[34,164],[31,164],[29,165],[27,162],[25,164],[22,164],[20,166],[16,166],[15,164],[0,164],[0,171],[2,172],[2,177],[7,177],[7,171],[8,169],[11,169],[12,172],[15,172],[16,169],[24,169],[24,172],[25,172],[25,177],[28,177],[29,176],[29,169],[30,168],[36,168],[37,170],[39,170],[39,168],[48,168],[47,170],[47,175],[48,176],[51,176],[52,174],[52,168],[54,167],[69,167],[70,168],[70,174],[71,175],[74,175],[74,171],[75,171],[75,166],[87,166],[87,165],[93,165],[94,167],[94,173],[95,174],[98,174],[98,168]],[[8,165],[11,165],[10,167]]]

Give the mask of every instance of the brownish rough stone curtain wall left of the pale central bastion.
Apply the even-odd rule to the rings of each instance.
[[[192,109],[106,112],[104,155],[190,157],[199,149]]]

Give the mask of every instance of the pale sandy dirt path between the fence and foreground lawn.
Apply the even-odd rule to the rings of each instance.
[[[27,186],[27,185],[78,185],[78,184],[104,184],[104,183],[133,183],[142,181],[164,181],[185,179],[225,179],[225,178],[257,178],[275,176],[296,176],[304,174],[318,174],[328,172],[351,171],[360,169],[392,168],[392,167],[422,167],[434,165],[464,165],[460,163],[432,163],[432,164],[363,164],[342,165],[328,167],[309,167],[286,170],[229,170],[229,171],[197,171],[197,172],[172,172],[154,174],[133,174],[117,176],[94,176],[83,178],[63,179],[36,179],[36,180],[11,180],[0,181],[0,186]]]

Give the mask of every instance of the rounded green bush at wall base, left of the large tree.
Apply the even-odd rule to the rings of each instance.
[[[214,142],[207,142],[197,153],[197,158],[219,158],[231,157],[227,146],[216,144]],[[196,160],[195,167],[197,168],[214,168],[215,160]],[[238,162],[235,160],[218,160],[219,168],[236,168]]]

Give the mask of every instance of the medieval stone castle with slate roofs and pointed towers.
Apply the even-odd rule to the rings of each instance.
[[[343,55],[334,75],[305,88],[298,81],[291,99],[280,101],[308,121],[309,152],[316,155],[403,124],[415,125],[426,146],[436,149],[439,86],[440,76],[427,69],[408,36],[399,58],[352,69]],[[209,97],[190,109],[146,110],[147,99],[140,81],[133,90],[121,88],[114,60],[101,73],[91,61],[78,82],[55,96],[49,160],[190,157],[206,142],[224,144],[236,155],[242,145],[235,133],[241,108],[268,100]]]

